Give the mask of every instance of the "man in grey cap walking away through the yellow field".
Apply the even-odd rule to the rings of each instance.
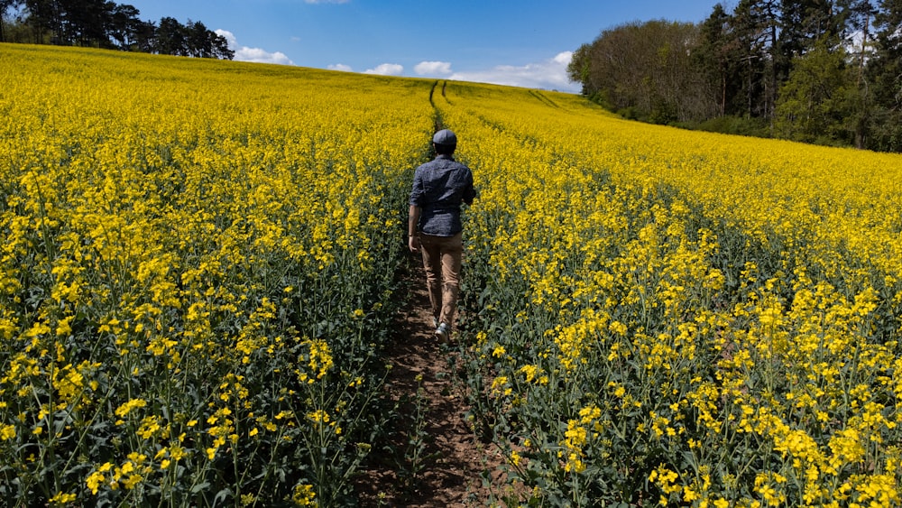
[[[448,129],[432,137],[436,158],[417,168],[410,191],[408,246],[423,253],[436,337],[447,342],[454,325],[464,254],[461,205],[473,204],[473,172],[454,160],[457,136]]]

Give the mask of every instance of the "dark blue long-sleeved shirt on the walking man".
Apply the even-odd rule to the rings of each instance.
[[[450,155],[439,154],[413,174],[410,204],[422,209],[419,230],[433,236],[455,236],[464,230],[461,203],[476,197],[473,172]]]

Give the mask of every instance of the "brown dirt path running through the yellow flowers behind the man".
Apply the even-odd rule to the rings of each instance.
[[[453,375],[458,346],[439,345],[432,334],[419,263],[419,256],[410,256],[404,280],[410,297],[396,319],[388,355],[393,367],[386,390],[404,416],[396,422],[395,457],[373,461],[358,492],[364,506],[485,506],[498,499],[492,483],[502,457],[491,443],[480,442],[465,420],[465,396]]]

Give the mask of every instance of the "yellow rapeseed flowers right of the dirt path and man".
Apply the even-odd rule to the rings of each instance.
[[[437,106],[482,192],[471,416],[521,503],[902,503],[902,157]]]

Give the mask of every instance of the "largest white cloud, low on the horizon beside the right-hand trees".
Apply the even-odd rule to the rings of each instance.
[[[488,70],[455,72],[448,79],[578,92],[581,89],[579,83],[571,83],[566,75],[566,66],[572,59],[573,51],[563,51],[549,60],[538,63],[523,66],[499,65]]]

